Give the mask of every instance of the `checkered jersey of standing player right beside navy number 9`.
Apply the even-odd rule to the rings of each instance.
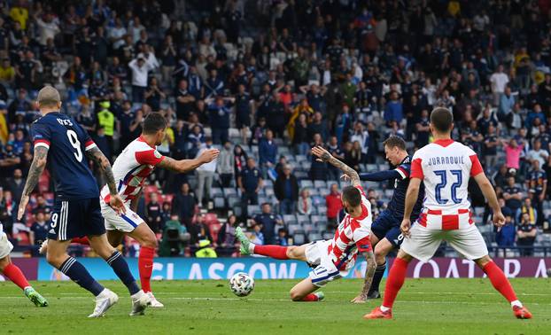
[[[150,146],[139,136],[130,142],[113,164],[113,176],[117,191],[125,203],[136,198],[144,186],[145,179],[153,169],[165,159],[155,147]],[[111,196],[107,185],[101,191],[101,198],[109,203]]]

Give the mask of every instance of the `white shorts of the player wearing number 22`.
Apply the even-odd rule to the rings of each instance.
[[[474,224],[461,230],[430,230],[421,224],[414,224],[410,231],[411,236],[404,238],[401,250],[419,261],[429,261],[443,240],[471,261],[488,254],[484,238]]]

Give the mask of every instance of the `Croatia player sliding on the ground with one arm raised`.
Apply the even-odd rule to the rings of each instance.
[[[368,300],[369,288],[376,269],[375,256],[369,242],[372,221],[371,204],[361,188],[360,176],[352,167],[335,159],[321,146],[314,147],[312,154],[318,157],[318,160],[341,169],[352,183],[342,192],[341,199],[346,215],[338,225],[335,237],[306,245],[255,245],[244,236],[241,228],[237,227],[236,237],[241,242],[241,253],[260,254],[278,260],[306,261],[314,268],[307,278],[291,289],[293,301],[322,300],[323,293],[315,291],[333,280],[346,277],[353,269],[356,258],[361,254],[368,262],[366,275],[360,294],[352,302],[365,302]]]

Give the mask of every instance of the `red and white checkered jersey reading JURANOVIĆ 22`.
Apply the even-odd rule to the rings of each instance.
[[[477,154],[454,140],[438,140],[414,154],[411,178],[423,180],[425,198],[418,222],[430,229],[469,228],[469,178],[484,173]]]

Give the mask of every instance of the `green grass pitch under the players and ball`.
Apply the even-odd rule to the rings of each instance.
[[[532,320],[516,320],[487,279],[409,279],[394,306],[394,320],[366,321],[380,304],[353,305],[359,280],[341,280],[324,289],[326,300],[288,300],[295,280],[257,281],[248,298],[238,299],[227,281],[155,282],[164,309],[129,317],[128,292],[118,282],[104,284],[120,295],[100,319],[87,319],[91,295],[70,282],[34,283],[50,302],[35,308],[12,283],[0,283],[0,333],[58,334],[549,334],[551,281],[514,279]]]

